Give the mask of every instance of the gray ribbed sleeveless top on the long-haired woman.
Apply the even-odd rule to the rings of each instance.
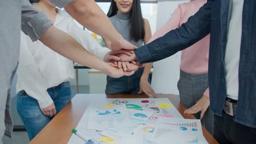
[[[114,15],[112,17],[109,17],[109,20],[114,25],[115,29],[123,36],[123,38],[127,41],[129,41],[131,44],[141,47],[143,40],[138,40],[137,42],[135,40],[131,40],[130,37],[130,29],[131,29],[131,13],[128,14],[122,14],[117,12],[117,15]]]

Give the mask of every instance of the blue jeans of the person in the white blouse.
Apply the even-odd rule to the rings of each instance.
[[[54,101],[57,113],[71,100],[69,82],[48,88],[47,92]],[[17,111],[25,124],[28,137],[32,140],[53,117],[45,116],[41,112],[37,100],[27,95],[25,91],[20,91],[17,97]]]

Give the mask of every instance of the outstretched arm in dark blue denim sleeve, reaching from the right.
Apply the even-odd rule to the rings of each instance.
[[[211,28],[212,3],[212,1],[208,1],[181,27],[168,32],[163,37],[152,41],[152,43],[136,49],[135,55],[138,61],[149,63],[170,57],[208,35]]]

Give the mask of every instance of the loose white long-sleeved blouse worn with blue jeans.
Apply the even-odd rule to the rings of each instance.
[[[103,59],[110,50],[102,47],[91,34],[75,25],[64,11],[58,12],[54,26],[71,35],[86,50]],[[53,100],[46,90],[74,79],[73,62],[49,49],[39,40],[32,42],[24,33],[21,33],[20,47],[16,93],[24,90],[37,99],[41,109],[47,107]]]

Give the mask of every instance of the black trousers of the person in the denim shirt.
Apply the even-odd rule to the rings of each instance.
[[[256,129],[236,123],[224,111],[222,117],[214,115],[213,136],[219,143],[256,143]]]

